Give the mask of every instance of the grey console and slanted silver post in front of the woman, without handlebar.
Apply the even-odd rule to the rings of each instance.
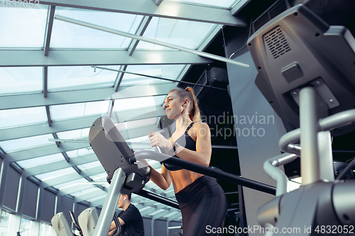
[[[150,168],[138,168],[129,162],[133,152],[108,116],[94,121],[89,130],[89,144],[107,172],[111,185],[104,201],[94,235],[107,235],[121,193],[143,189],[149,180]]]

